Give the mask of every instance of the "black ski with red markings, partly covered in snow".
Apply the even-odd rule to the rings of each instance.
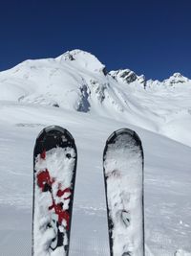
[[[38,135],[33,151],[32,256],[67,256],[77,151],[67,129]]]

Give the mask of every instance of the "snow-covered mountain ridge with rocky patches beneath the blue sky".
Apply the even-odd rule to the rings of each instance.
[[[0,102],[50,105],[126,120],[191,145],[191,81],[180,73],[164,81],[146,81],[130,69],[107,72],[94,55],[73,50],[57,58],[25,60],[1,72],[0,90]]]

